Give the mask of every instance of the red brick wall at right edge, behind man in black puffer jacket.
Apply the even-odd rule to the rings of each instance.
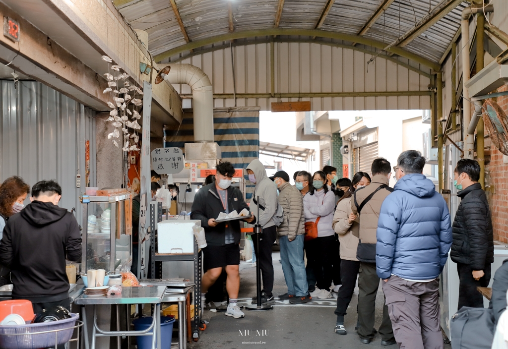
[[[497,92],[506,90],[505,85]],[[497,103],[508,114],[508,96],[498,97]],[[490,163],[486,170],[490,175],[490,184],[494,186],[494,194],[490,195],[489,200],[494,240],[508,242],[508,164],[503,164],[503,154],[494,145],[491,146]]]

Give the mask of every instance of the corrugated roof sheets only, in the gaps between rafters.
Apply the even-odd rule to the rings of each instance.
[[[197,41],[229,32],[227,1],[176,0],[176,5],[190,41]],[[380,16],[365,37],[387,45],[411,29],[428,15],[441,0],[396,0]],[[320,19],[327,0],[285,0],[280,28],[313,29]],[[357,34],[383,0],[335,1],[321,29]],[[405,49],[438,62],[460,26],[460,14],[466,2],[442,18]],[[274,27],[278,0],[232,1],[235,31]],[[160,54],[185,43],[169,0],[134,0],[119,7],[135,29],[148,31],[148,48]]]

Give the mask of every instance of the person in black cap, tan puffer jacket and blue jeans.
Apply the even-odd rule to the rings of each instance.
[[[289,299],[292,304],[307,303],[307,275],[303,260],[303,237],[305,235],[303,199],[300,191],[290,185],[289,175],[277,171],[270,179],[279,190],[279,205],[282,207],[282,223],[277,227],[280,244],[280,260],[288,292],[279,299]]]

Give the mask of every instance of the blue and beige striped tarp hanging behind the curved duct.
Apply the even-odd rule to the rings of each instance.
[[[235,168],[247,168],[253,159],[259,158],[259,108],[238,107],[213,110],[214,141],[220,146],[222,160]],[[180,127],[164,126],[164,147],[179,147],[194,142],[194,119],[185,112]],[[247,183],[248,179],[246,179]],[[247,185],[246,197],[250,199],[254,186]]]

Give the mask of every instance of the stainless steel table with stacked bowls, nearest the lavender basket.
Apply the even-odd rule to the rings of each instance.
[[[86,319],[85,305],[93,305],[93,328],[91,349],[95,349],[96,337],[118,337],[120,336],[152,336],[152,349],[161,347],[161,302],[166,293],[166,286],[140,286],[140,287],[122,287],[121,295],[111,295],[105,297],[89,297],[81,295],[74,303],[81,305],[83,319]],[[118,305],[119,304],[155,304],[153,321],[150,327],[143,331],[119,330]],[[117,331],[104,331],[97,326],[97,305],[116,305],[117,306]],[[141,310],[141,309],[140,309]],[[85,337],[85,347],[89,349],[88,328],[86,321],[83,325]]]

